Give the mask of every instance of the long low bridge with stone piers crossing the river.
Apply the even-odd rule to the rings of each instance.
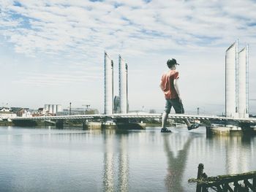
[[[39,122],[45,122],[56,125],[57,128],[64,128],[64,122],[71,120],[74,122],[80,122],[83,128],[128,128],[128,129],[140,129],[146,128],[145,123],[138,123],[146,120],[160,120],[162,114],[152,113],[125,113],[125,114],[94,114],[94,115],[57,115],[57,116],[38,116],[38,117],[15,117],[10,118],[17,126],[37,126]],[[189,121],[200,120],[206,124],[206,133],[219,132],[223,134],[230,130],[237,130],[241,127],[244,131],[252,131],[252,125],[256,124],[256,118],[229,118],[217,115],[187,115],[187,114],[169,114],[169,119]],[[208,120],[208,122],[206,122]],[[91,123],[89,123],[91,122]],[[137,123],[135,123],[137,122]],[[210,124],[209,124],[210,123]],[[213,123],[217,123],[218,126],[214,126]],[[210,126],[211,125],[211,126]],[[228,125],[228,126],[227,126]],[[46,124],[45,124],[46,126]],[[217,129],[215,129],[217,128]],[[234,128],[234,129],[233,129]],[[223,130],[224,129],[224,130]]]

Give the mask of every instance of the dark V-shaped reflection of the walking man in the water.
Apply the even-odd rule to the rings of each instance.
[[[183,138],[182,136],[179,136],[181,142],[178,143],[179,146],[183,145],[182,150],[178,150],[178,155],[176,158],[174,157],[173,151],[170,147],[170,140],[175,139],[177,141],[177,137],[170,137],[170,134],[164,135],[164,147],[165,147],[165,153],[167,155],[167,175],[165,178],[165,186],[167,188],[167,191],[184,191],[181,186],[182,176],[184,174],[184,169],[186,166],[187,161],[187,153],[189,150],[189,145],[192,141],[190,137]],[[182,139],[185,139],[183,142]],[[173,149],[176,150],[176,149]]]

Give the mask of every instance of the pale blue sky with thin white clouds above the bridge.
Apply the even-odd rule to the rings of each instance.
[[[104,51],[129,65],[130,110],[162,112],[159,80],[176,58],[187,112],[225,111],[225,50],[249,44],[256,99],[256,1],[0,0],[0,105],[72,102],[103,111]],[[256,101],[249,110],[256,112]]]

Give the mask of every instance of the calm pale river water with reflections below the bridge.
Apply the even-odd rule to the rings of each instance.
[[[256,170],[256,137],[187,131],[0,127],[0,191],[195,191],[208,176]]]

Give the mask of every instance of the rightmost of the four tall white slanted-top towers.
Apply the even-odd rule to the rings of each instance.
[[[248,114],[248,45],[238,53],[238,115],[249,118]]]

